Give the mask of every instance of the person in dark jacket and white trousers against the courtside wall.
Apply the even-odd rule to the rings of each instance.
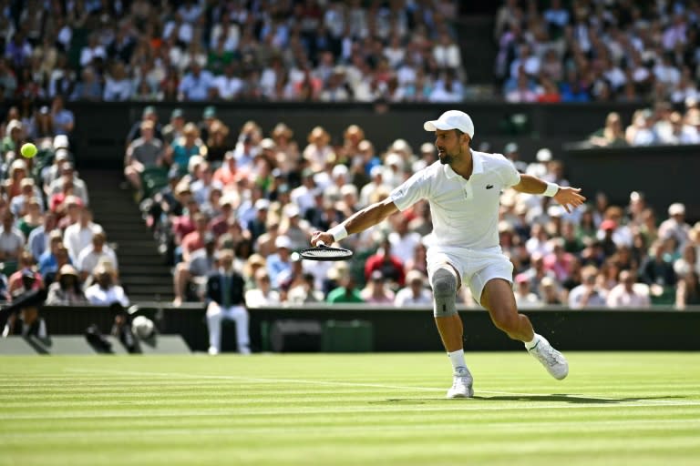
[[[207,279],[207,327],[209,328],[209,354],[221,351],[221,321],[236,322],[238,351],[250,354],[248,335],[248,310],[243,299],[244,284],[240,273],[233,269],[233,251],[223,249],[219,253],[219,270]]]

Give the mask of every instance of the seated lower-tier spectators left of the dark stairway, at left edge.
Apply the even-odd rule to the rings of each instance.
[[[46,333],[36,313],[43,302],[129,305],[118,284],[117,255],[93,222],[88,187],[74,166],[75,119],[63,104],[55,96],[36,115],[25,105],[11,106],[0,121],[0,300],[13,302],[30,291],[45,296],[9,316],[5,335]],[[35,157],[19,154],[26,141],[36,142]]]

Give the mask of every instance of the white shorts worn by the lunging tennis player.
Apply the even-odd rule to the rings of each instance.
[[[468,283],[471,296],[481,304],[481,292],[491,279],[504,279],[513,282],[513,264],[503,255],[500,246],[486,249],[469,249],[452,246],[431,246],[427,248],[427,277],[440,266],[454,267],[462,280]]]

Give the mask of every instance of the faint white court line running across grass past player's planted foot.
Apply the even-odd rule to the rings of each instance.
[[[438,389],[433,387],[415,387],[415,386],[402,386],[402,385],[385,385],[380,383],[359,383],[359,382],[343,382],[343,381],[331,381],[331,380],[304,380],[304,379],[279,379],[279,378],[264,378],[264,377],[246,377],[240,375],[196,375],[181,372],[148,372],[148,371],[138,371],[138,370],[82,370],[82,369],[68,369],[67,372],[78,372],[78,373],[103,373],[112,375],[133,375],[133,376],[145,376],[145,377],[177,377],[180,379],[209,379],[209,380],[240,380],[240,381],[250,381],[250,382],[261,382],[261,383],[299,383],[306,385],[317,385],[317,386],[332,386],[332,387],[368,387],[375,389],[388,389],[388,390],[418,390],[418,391],[445,391],[445,389]],[[510,395],[510,396],[530,396],[530,397],[546,397],[552,396],[552,393],[525,393],[516,391],[495,391],[495,390],[478,390],[478,393],[490,393],[495,395]],[[625,402],[625,400],[619,400],[616,398],[605,398],[602,396],[597,396],[595,394],[590,395],[569,395],[561,394],[566,398],[570,399],[583,399],[590,400],[592,398],[605,401],[616,401],[619,403]],[[644,406],[644,405],[667,405],[667,406],[698,406],[700,402],[695,401],[676,401],[676,400],[629,400],[635,403],[642,403],[640,405],[630,405],[630,406]]]

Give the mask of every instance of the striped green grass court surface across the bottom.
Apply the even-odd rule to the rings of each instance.
[[[700,353],[0,358],[0,465],[700,464]]]

